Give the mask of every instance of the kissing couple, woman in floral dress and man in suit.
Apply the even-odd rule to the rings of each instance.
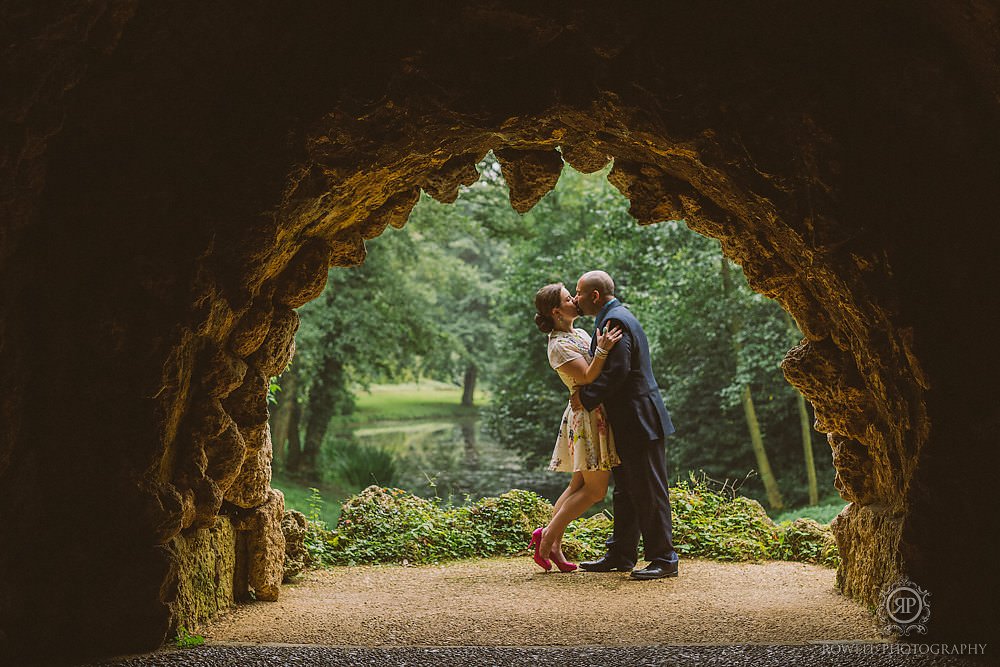
[[[614,528],[607,551],[580,563],[590,572],[630,572],[632,579],[676,577],[664,445],[674,432],[653,377],[642,326],[615,297],[604,271],[588,271],[570,295],[562,283],[535,295],[535,324],[548,334],[549,365],[569,391],[549,470],[572,473],[547,526],[532,533],[532,558],[546,572],[566,561],[562,538],[571,521],[604,499],[614,476]],[[594,316],[594,336],[573,327]],[[638,562],[639,537],[648,564]]]

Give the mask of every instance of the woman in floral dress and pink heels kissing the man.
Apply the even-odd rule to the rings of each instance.
[[[621,330],[615,328],[598,332],[597,349],[591,358],[590,336],[583,329],[573,328],[573,322],[580,313],[562,283],[546,285],[538,290],[535,310],[535,324],[549,335],[549,365],[559,374],[570,393],[574,387],[597,379],[608,351],[621,338]],[[576,565],[567,563],[563,556],[563,533],[570,521],[604,499],[611,467],[619,463],[621,461],[615,451],[614,435],[604,407],[600,406],[592,412],[574,411],[567,401],[549,470],[571,472],[573,476],[556,501],[552,520],[531,536],[530,546],[535,547],[534,561],[546,572],[552,569],[552,562],[561,572],[576,569]]]

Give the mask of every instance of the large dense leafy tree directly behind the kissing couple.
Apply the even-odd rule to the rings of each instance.
[[[668,441],[671,475],[704,470],[720,480],[742,479],[748,470],[766,469],[747,446],[750,413],[742,399],[749,390],[774,486],[787,478],[797,498],[802,449],[795,392],[779,368],[788,345],[780,307],[750,290],[735,266],[727,297],[717,241],[683,221],[637,225],[628,208],[602,174],[566,167],[555,190],[522,218],[520,234],[509,238],[494,314],[506,342],[497,352],[488,429],[533,460],[547,460],[566,392],[532,324],[532,299],[546,283],[561,281],[572,291],[585,270],[604,268],[650,341],[654,374],[678,428]],[[592,321],[577,326],[589,329]],[[825,474],[832,483],[832,468]],[[767,496],[763,480],[744,491]]]

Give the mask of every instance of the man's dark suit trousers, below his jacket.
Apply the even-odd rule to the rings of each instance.
[[[618,447],[621,465],[612,468],[615,521],[606,544],[608,554],[631,563],[637,562],[640,535],[646,560],[663,565],[677,562],[664,440],[622,443]]]

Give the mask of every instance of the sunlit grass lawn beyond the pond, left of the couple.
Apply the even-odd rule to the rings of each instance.
[[[479,412],[488,396],[477,391],[474,400],[475,406],[463,406],[461,387],[433,380],[373,385],[370,391],[357,394],[357,405],[351,415],[351,422],[371,424],[380,421],[470,417]]]

